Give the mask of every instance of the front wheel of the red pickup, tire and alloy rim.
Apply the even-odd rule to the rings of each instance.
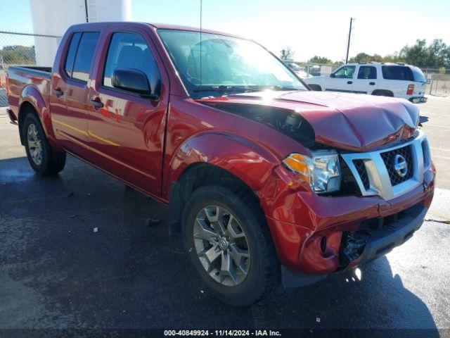
[[[274,289],[279,276],[279,264],[264,214],[259,203],[249,195],[250,193],[244,192],[238,186],[228,189],[207,185],[193,192],[183,213],[184,246],[191,263],[203,280],[205,288],[224,303],[233,306],[248,306],[263,299]],[[200,221],[203,226],[209,225],[208,229],[214,232],[214,225],[218,223],[210,223],[210,219],[217,216],[220,208],[223,211],[226,232],[233,235],[226,236],[224,232],[223,237],[212,239],[212,242],[207,242],[204,238],[194,239],[195,233],[198,234],[197,237],[203,237],[203,232],[198,230]],[[210,218],[199,217],[207,216],[207,213]],[[229,246],[224,249],[221,244],[224,244],[226,238],[229,238]],[[214,253],[219,256],[212,258],[212,263],[207,266],[207,256],[203,256],[203,261],[200,261],[198,255],[199,251],[201,255],[201,252],[211,252],[211,249],[214,249],[214,252],[219,249],[219,253]],[[240,259],[235,259],[236,257]],[[240,262],[240,268],[237,267],[237,261]],[[228,266],[229,270],[223,270],[224,266]],[[245,270],[246,273],[243,272]],[[232,275],[237,276],[236,281]]]

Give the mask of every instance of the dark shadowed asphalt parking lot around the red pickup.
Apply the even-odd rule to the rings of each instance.
[[[38,177],[0,114],[0,329],[450,330],[450,98],[420,104],[438,170],[435,201],[403,246],[360,270],[233,308],[203,291],[167,208],[69,156]],[[161,222],[149,225],[149,218]],[[94,232],[97,228],[97,232]],[[401,337],[387,331],[383,337]]]

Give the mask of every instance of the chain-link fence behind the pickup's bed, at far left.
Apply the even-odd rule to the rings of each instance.
[[[0,31],[0,106],[6,100],[6,70],[10,65],[51,67],[61,37]]]

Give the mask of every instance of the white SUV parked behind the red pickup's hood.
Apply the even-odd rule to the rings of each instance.
[[[422,70],[404,63],[349,63],[327,76],[303,80],[313,90],[392,96],[425,102]]]

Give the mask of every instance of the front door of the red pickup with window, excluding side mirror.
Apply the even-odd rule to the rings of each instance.
[[[96,82],[89,92],[90,100],[101,103],[89,111],[93,161],[134,187],[159,195],[169,100],[167,75],[145,30],[112,28],[98,61]],[[159,99],[113,87],[116,69],[145,73],[152,94],[160,93]]]

